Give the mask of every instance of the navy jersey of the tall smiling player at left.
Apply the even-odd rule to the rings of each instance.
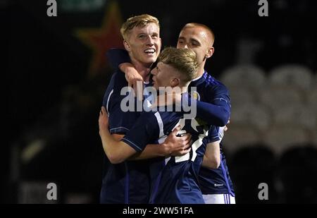
[[[109,116],[111,134],[125,135],[139,117],[137,111],[123,111],[121,109],[121,102],[129,95],[128,92],[120,95],[123,87],[128,87],[128,83],[125,80],[125,74],[118,71],[113,74],[103,101],[103,106],[106,107]],[[127,107],[128,104],[129,102],[127,102]],[[149,202],[150,181],[147,160],[108,164],[104,168],[100,194],[101,203]]]

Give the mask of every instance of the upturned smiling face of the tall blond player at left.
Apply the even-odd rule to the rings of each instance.
[[[135,26],[130,30],[124,44],[132,60],[150,66],[161,51],[159,26],[156,23],[149,23],[144,27]]]

